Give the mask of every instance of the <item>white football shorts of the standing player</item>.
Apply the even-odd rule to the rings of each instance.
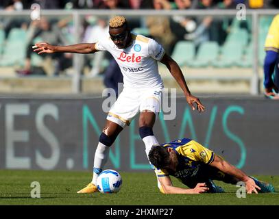
[[[161,110],[162,88],[123,88],[117,101],[108,112],[107,120],[117,123],[121,127],[130,125],[139,112],[149,110],[156,118]]]

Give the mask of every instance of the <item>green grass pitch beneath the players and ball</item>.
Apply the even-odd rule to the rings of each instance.
[[[236,197],[235,185],[216,181],[225,194],[161,194],[153,172],[120,172],[117,194],[77,194],[90,172],[0,170],[0,205],[279,205],[279,193]],[[255,176],[279,191],[279,176]],[[40,198],[31,198],[32,181],[40,183]],[[182,185],[173,179],[175,185]]]

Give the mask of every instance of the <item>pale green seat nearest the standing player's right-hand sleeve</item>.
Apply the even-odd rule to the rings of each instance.
[[[171,57],[178,65],[185,66],[192,62],[195,57],[195,45],[193,42],[179,41],[175,44]]]

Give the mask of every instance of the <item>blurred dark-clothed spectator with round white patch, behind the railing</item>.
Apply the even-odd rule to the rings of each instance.
[[[175,0],[178,10],[192,8],[191,0]],[[195,19],[191,16],[172,16],[171,29],[175,34],[176,41],[184,40],[185,34],[193,32],[196,28]]]

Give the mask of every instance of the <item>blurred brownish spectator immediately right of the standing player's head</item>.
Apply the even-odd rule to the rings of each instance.
[[[169,10],[171,5],[167,0],[153,0],[155,10]],[[168,16],[147,16],[146,26],[151,38],[158,41],[165,48],[166,53],[171,54],[175,43],[175,36],[171,31]]]

